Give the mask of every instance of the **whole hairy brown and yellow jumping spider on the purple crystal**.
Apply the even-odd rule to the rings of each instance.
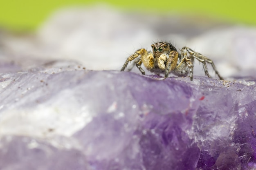
[[[143,75],[145,74],[145,71],[141,68],[142,63],[153,73],[164,73],[164,78],[168,77],[170,72],[178,76],[186,76],[189,72],[189,77],[192,81],[193,62],[194,58],[196,58],[199,62],[202,62],[205,75],[211,77],[206,66],[206,63],[209,63],[218,77],[223,80],[212,60],[188,47],[183,47],[181,49],[181,54],[178,53],[177,49],[168,42],[157,42],[152,44],[151,47],[153,49],[153,53],[148,53],[146,49],[139,49],[135,51],[134,54],[127,58],[121,71],[126,69],[128,62],[134,60],[134,64],[136,64],[137,68]]]

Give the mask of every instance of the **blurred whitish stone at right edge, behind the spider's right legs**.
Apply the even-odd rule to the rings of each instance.
[[[256,29],[244,26],[212,30],[189,41],[188,46],[218,61],[223,76],[256,69]]]

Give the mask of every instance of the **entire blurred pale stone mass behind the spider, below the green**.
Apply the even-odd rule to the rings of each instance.
[[[7,36],[2,44],[5,51],[16,56],[15,60],[27,56],[37,60],[76,60],[87,69],[120,70],[135,50],[150,50],[152,42],[164,40],[177,49],[188,46],[206,55],[224,77],[255,70],[254,27],[212,24],[210,28],[211,24],[199,19],[191,22],[177,15],[128,13],[107,6],[67,8],[56,11],[35,35]],[[195,75],[204,75],[202,64],[198,63],[195,62]],[[132,71],[139,73],[137,69]]]

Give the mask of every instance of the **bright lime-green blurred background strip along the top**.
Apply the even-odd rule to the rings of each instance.
[[[15,31],[31,31],[59,8],[100,3],[126,11],[197,13],[256,25],[256,0],[0,0],[0,26]]]

